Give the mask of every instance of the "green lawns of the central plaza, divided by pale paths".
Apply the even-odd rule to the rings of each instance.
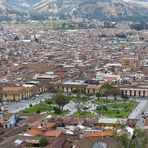
[[[94,110],[92,109],[93,113],[88,111],[89,107],[85,106],[86,102],[89,100],[88,96],[78,97],[76,96],[68,96],[70,101],[73,101],[75,103],[81,103],[81,108],[77,107],[77,112],[75,112],[74,116],[86,116],[86,117],[99,117],[100,115],[103,115],[105,117],[109,118],[127,118],[128,115],[132,112],[133,109],[136,108],[138,105],[138,102],[136,101],[130,101],[130,100],[114,100],[114,99],[98,99],[95,101],[92,101],[92,105],[98,105],[97,108]],[[47,112],[51,115],[67,115],[70,113],[70,111],[63,110],[59,112],[58,106],[54,102],[53,99],[48,99],[44,102],[40,102],[37,105],[30,106],[29,108],[26,108],[22,112],[24,113],[41,113],[41,112]],[[96,112],[96,113],[94,113]],[[98,115],[97,115],[98,114]]]

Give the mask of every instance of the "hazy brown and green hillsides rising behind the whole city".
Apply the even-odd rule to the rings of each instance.
[[[148,20],[148,0],[1,0],[0,12],[10,17],[26,14],[32,19],[54,16],[142,21]]]

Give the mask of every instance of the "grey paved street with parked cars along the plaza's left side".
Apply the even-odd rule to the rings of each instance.
[[[44,93],[44,94],[36,95],[29,99],[19,101],[19,102],[4,102],[4,105],[5,105],[5,109],[9,113],[16,113],[29,107],[30,104],[35,105],[35,104],[39,104],[40,101],[50,99],[53,97],[53,95],[54,94],[52,93]]]

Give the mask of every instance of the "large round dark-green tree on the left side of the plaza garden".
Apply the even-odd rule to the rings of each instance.
[[[59,106],[59,108],[63,110],[63,107],[69,103],[69,98],[62,94],[57,94],[56,97],[54,98],[54,101]]]

